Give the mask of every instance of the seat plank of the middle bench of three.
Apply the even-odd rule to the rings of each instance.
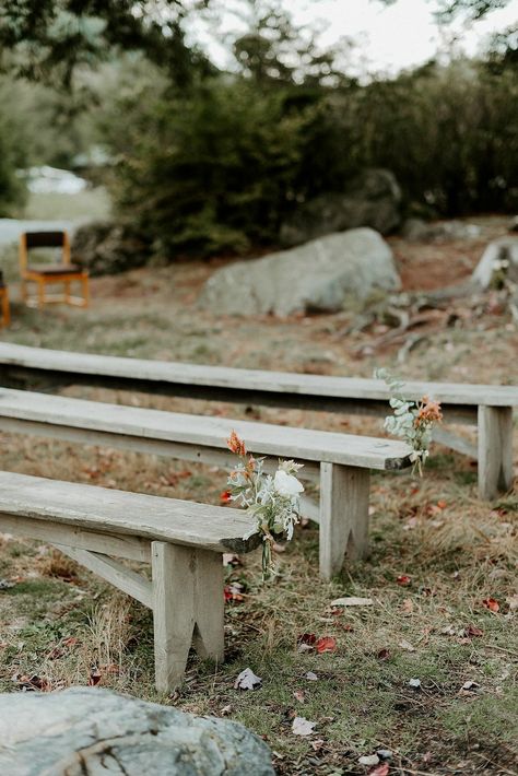
[[[8,388],[0,389],[0,425],[2,418],[223,450],[235,430],[256,455],[381,470],[410,466],[410,447],[395,439],[163,412]]]

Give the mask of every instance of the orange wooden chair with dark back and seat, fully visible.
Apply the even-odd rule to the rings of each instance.
[[[61,248],[61,261],[56,264],[30,263],[32,248]],[[20,273],[22,275],[22,299],[31,307],[43,307],[49,303],[64,303],[76,307],[87,307],[89,273],[70,259],[70,238],[67,232],[24,232],[20,235]],[[82,296],[72,296],[70,285],[81,283]],[[37,295],[28,295],[28,284],[37,284]],[[63,283],[63,294],[46,294],[50,283]]]

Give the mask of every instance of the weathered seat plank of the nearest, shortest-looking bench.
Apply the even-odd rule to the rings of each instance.
[[[244,510],[0,472],[0,516],[76,525],[213,552],[249,552],[260,538]]]

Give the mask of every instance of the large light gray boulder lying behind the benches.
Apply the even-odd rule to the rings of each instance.
[[[400,285],[387,243],[360,228],[220,269],[207,281],[200,305],[229,315],[334,313]]]

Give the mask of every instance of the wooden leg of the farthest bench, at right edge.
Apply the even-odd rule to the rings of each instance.
[[[513,484],[513,408],[479,407],[479,493],[491,501]]]

